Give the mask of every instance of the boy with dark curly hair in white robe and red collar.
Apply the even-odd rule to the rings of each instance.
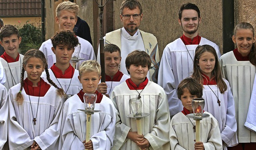
[[[74,47],[78,45],[78,39],[73,32],[61,31],[56,33],[52,40],[52,52],[56,56],[56,63],[48,69],[50,78],[64,92],[72,96],[82,89],[82,84],[78,80],[78,70],[70,64],[70,59],[74,52]],[[41,76],[46,80],[46,72]]]

